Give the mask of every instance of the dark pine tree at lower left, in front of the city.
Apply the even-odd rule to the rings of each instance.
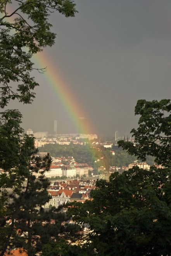
[[[14,127],[10,126],[10,128],[17,131],[18,128],[15,125],[19,122],[21,121],[17,120]],[[50,181],[45,178],[44,173],[50,168],[51,158],[49,154],[43,158],[37,156],[33,137],[23,134],[20,139],[17,147],[18,165],[12,169],[8,166],[7,172],[4,172],[1,177],[5,178],[2,195],[6,195],[5,200],[1,201],[3,207],[0,211],[0,236],[3,237],[3,240],[0,240],[1,256],[9,247],[10,249],[23,248],[28,256],[37,255],[48,243],[55,241],[56,244],[67,245],[67,241],[62,241],[68,237],[70,240],[72,237],[75,238],[75,231],[79,230],[74,224],[62,225],[68,218],[59,212],[61,207],[59,209],[52,207],[48,212],[43,209],[42,205],[50,199],[47,192]],[[6,140],[8,142],[8,139]],[[4,167],[7,167],[6,164]],[[8,190],[10,188],[9,192],[7,188]],[[62,241],[60,241],[61,236]]]

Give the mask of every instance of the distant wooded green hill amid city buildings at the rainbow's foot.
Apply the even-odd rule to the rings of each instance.
[[[136,160],[135,156],[129,155],[125,150],[115,150],[115,156],[112,155],[111,149],[92,148],[91,145],[58,145],[46,144],[39,148],[40,152],[50,152],[52,157],[74,157],[78,163],[87,163],[97,169],[100,166],[105,166],[109,170],[110,166],[128,166]],[[97,161],[99,159],[100,161]]]

